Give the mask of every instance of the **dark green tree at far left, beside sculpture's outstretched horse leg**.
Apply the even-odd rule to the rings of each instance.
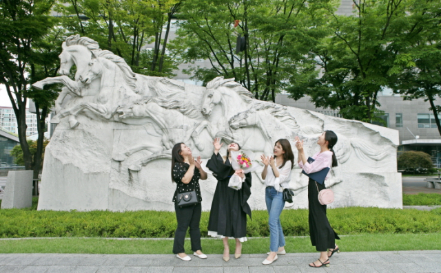
[[[30,89],[31,83],[53,75],[56,70],[54,58],[57,53],[53,49],[51,52],[55,45],[50,45],[54,42],[50,33],[57,19],[48,15],[53,4],[54,1],[47,0],[0,1],[0,83],[6,85],[17,118],[23,165],[28,170],[33,169],[34,177],[41,168],[44,120],[57,97],[56,90]],[[34,154],[26,141],[28,98],[34,98],[37,106],[39,140]]]

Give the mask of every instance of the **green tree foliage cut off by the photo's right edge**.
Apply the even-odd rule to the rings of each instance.
[[[435,123],[441,135],[441,2],[416,1],[409,12],[412,39],[400,43],[399,58],[391,74],[394,91],[404,95],[405,100],[423,98],[429,101]],[[437,105],[438,104],[438,105]]]

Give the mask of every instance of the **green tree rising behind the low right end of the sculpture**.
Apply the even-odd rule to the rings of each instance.
[[[308,95],[316,107],[338,109],[344,118],[378,121],[378,92],[390,84],[398,48],[418,39],[407,16],[412,4],[360,0],[353,1],[351,16],[333,15],[327,36],[311,51],[322,75],[291,82],[291,97]]]

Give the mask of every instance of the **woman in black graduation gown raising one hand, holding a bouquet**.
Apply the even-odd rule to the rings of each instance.
[[[251,195],[251,173],[244,174],[242,170],[234,171],[232,168],[229,152],[239,151],[240,147],[237,143],[229,144],[225,161],[218,153],[223,145],[220,144],[218,138],[214,140],[213,145],[214,153],[207,162],[207,168],[218,179],[218,184],[209,213],[208,234],[223,239],[223,259],[229,261],[228,238],[236,239],[236,250],[234,251],[236,259],[240,257],[242,252],[241,242],[247,241],[247,215],[251,218],[251,208],[247,204],[249,195]],[[245,178],[240,190],[234,190],[228,186],[229,178],[235,173]]]

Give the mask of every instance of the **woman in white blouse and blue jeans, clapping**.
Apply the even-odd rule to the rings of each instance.
[[[262,179],[265,179],[265,202],[269,214],[269,253],[262,263],[269,265],[277,260],[277,254],[285,255],[285,237],[283,237],[280,213],[282,213],[285,201],[283,201],[283,189],[289,187],[291,169],[294,166],[294,154],[291,144],[286,139],[280,139],[274,144],[274,157],[261,155],[265,168]],[[268,168],[269,166],[269,168]]]

